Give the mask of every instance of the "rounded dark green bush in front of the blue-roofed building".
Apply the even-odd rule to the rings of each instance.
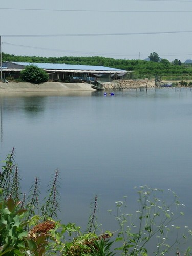
[[[30,82],[33,84],[40,84],[47,82],[49,75],[41,68],[35,65],[28,65],[20,72],[20,78],[23,82]]]

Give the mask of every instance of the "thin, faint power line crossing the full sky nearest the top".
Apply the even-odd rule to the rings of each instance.
[[[142,0],[137,0],[142,1]],[[147,1],[155,1],[155,0],[147,0]],[[160,0],[159,0],[160,1]],[[165,1],[165,0],[162,0]],[[172,0],[176,1],[176,0]],[[59,11],[59,12],[192,12],[192,10],[63,10],[63,9],[29,9],[29,8],[0,8],[2,10],[19,10],[19,11]]]

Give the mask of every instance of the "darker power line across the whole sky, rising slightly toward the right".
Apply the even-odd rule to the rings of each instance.
[[[176,33],[191,33],[192,30],[180,31],[161,31],[161,32],[131,32],[131,33],[98,33],[98,34],[41,34],[41,35],[2,35],[4,37],[71,37],[71,36],[120,36],[120,35],[157,35],[157,34],[176,34]]]

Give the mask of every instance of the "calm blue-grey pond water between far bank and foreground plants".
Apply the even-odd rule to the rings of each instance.
[[[98,222],[117,230],[107,212],[135,186],[172,189],[185,204],[191,227],[192,91],[158,90],[0,95],[1,159],[15,147],[28,191],[35,176],[42,190],[58,168],[62,222],[86,228],[89,205],[99,199]]]

